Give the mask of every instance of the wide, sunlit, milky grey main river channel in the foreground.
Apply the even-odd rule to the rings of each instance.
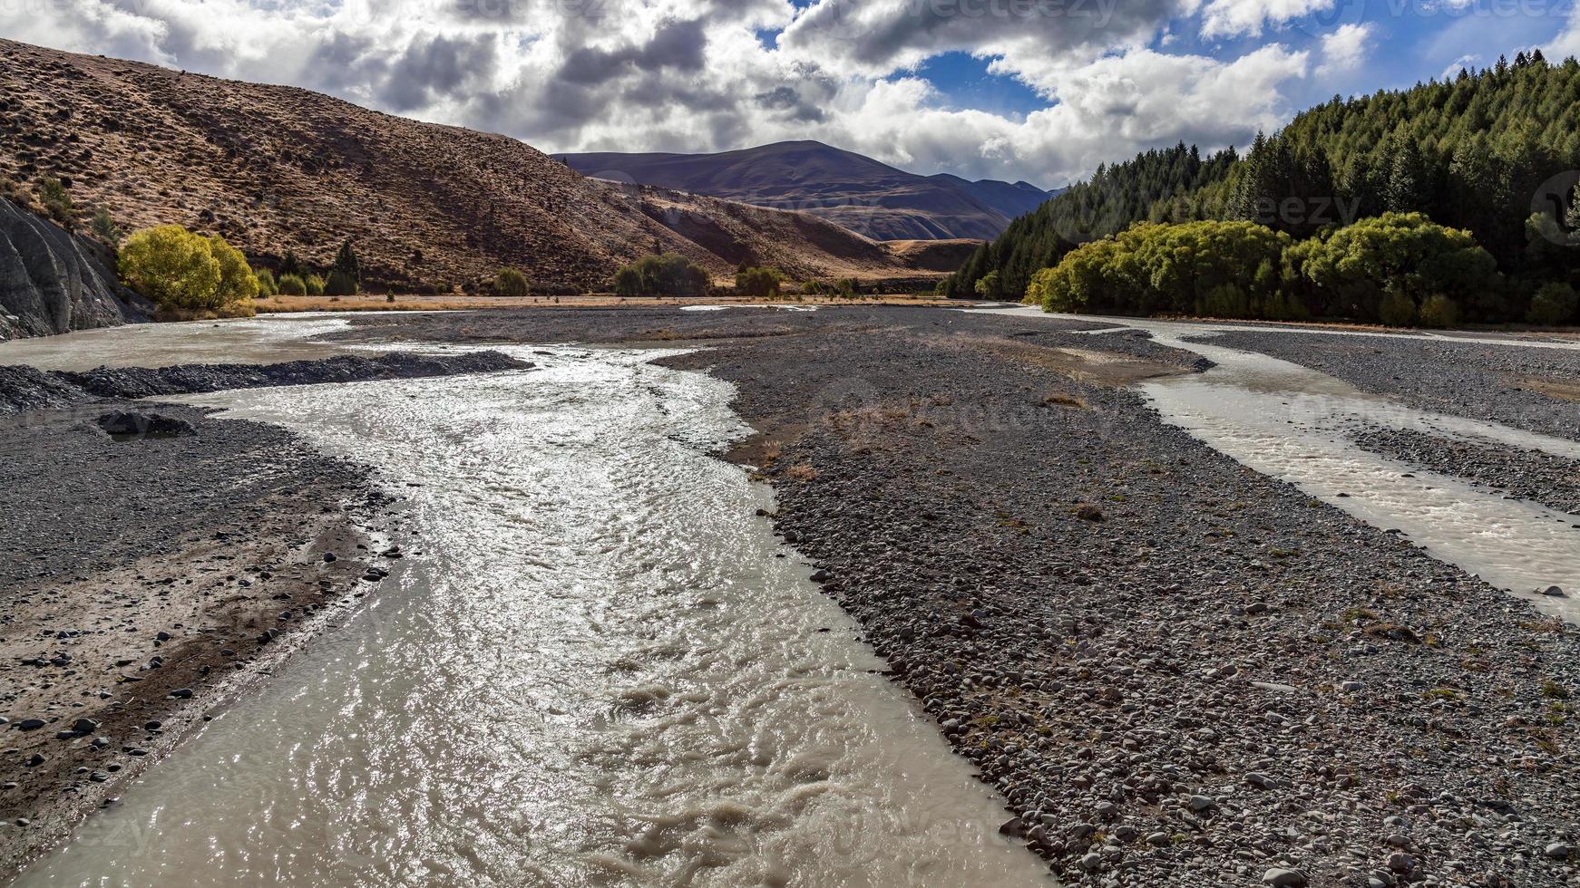
[[[517,352],[188,399],[376,465],[412,555],[19,885],[1048,885],[709,456],[732,388]]]

